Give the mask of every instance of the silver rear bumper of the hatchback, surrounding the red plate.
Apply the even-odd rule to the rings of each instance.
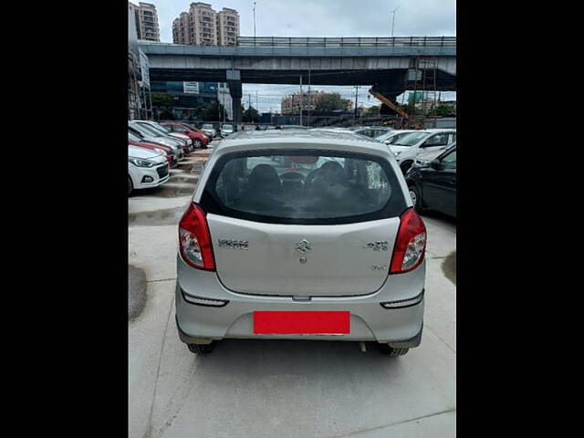
[[[292,297],[252,296],[229,291],[216,273],[186,266],[179,256],[176,285],[176,322],[185,343],[208,343],[214,339],[326,339],[377,341],[398,347],[420,344],[424,299],[401,308],[383,308],[381,302],[401,302],[420,296],[425,265],[410,273],[391,276],[391,281],[374,294],[359,297],[312,297],[295,301]],[[196,271],[196,272],[194,272]],[[193,276],[197,281],[193,282]],[[391,283],[391,285],[387,285]],[[417,290],[415,290],[416,287]],[[222,307],[193,304],[193,297],[227,301]],[[191,298],[191,302],[187,299]],[[218,303],[222,304],[222,303]],[[349,311],[350,333],[346,335],[255,335],[254,311]]]

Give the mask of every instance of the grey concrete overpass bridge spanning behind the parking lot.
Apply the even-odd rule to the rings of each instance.
[[[455,36],[240,36],[237,45],[139,41],[152,81],[228,82],[234,118],[241,84],[373,85],[386,99],[406,89],[456,89]]]

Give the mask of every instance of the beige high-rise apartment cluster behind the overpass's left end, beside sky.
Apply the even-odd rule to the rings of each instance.
[[[192,3],[172,22],[172,42],[193,46],[235,46],[239,36],[239,13],[224,7],[215,12],[208,3]]]

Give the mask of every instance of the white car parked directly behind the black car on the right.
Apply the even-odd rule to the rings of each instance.
[[[456,130],[416,130],[391,141],[390,150],[405,174],[422,152],[441,151],[456,141]]]

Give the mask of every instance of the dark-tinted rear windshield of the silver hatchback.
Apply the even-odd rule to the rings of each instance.
[[[201,203],[209,213],[274,224],[349,224],[399,216],[406,208],[389,162],[316,150],[226,154]]]

